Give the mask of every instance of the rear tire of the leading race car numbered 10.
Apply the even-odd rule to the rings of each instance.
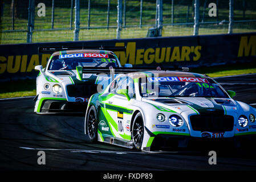
[[[91,106],[86,115],[86,133],[89,142],[96,142],[97,140],[97,117],[96,109]]]

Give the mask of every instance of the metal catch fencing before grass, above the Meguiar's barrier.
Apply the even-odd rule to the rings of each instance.
[[[1,44],[256,31],[254,0],[1,0]]]

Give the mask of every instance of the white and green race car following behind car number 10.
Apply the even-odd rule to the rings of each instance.
[[[108,79],[99,77],[94,69],[120,67],[120,61],[112,51],[74,49],[54,52],[46,68],[42,65],[35,67],[39,75],[36,78],[34,111],[37,114],[84,113],[88,99],[97,93],[97,86]],[[126,64],[125,67],[131,65]],[[84,72],[85,68],[87,72]]]

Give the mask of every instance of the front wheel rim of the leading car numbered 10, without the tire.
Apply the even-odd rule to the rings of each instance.
[[[143,142],[143,134],[144,134],[143,121],[141,118],[138,118],[136,119],[133,125],[133,130],[132,130],[133,142],[136,147],[141,146],[141,143]]]

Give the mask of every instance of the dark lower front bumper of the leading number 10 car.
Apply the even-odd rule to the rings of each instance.
[[[204,150],[208,148],[250,148],[256,142],[256,134],[239,135],[231,138],[201,138],[185,135],[159,134],[155,135],[150,147],[145,151],[173,150],[177,148],[190,148]]]

